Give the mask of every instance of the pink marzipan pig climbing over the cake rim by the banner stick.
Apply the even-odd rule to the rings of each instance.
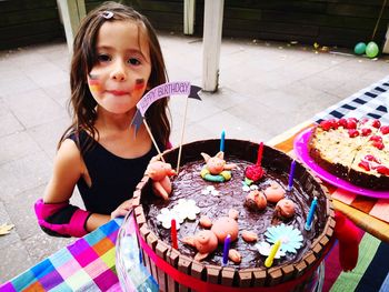
[[[171,182],[169,177],[174,175],[176,172],[171,169],[170,163],[162,161],[153,161],[147,167],[146,173],[153,181],[153,189],[158,195],[164,200],[169,199],[171,193]]]

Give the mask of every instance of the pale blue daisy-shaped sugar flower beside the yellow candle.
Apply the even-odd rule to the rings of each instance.
[[[267,241],[270,243],[276,243],[276,241],[281,240],[280,250],[282,252],[296,253],[302,245],[301,232],[283,223],[268,228],[265,236],[267,236]]]

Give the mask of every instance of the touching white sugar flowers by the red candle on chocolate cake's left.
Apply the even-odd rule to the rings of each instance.
[[[177,230],[179,230],[180,224],[182,224],[186,219],[194,220],[198,213],[200,213],[200,208],[196,205],[193,200],[180,199],[178,200],[178,204],[172,209],[162,208],[157,215],[157,220],[164,229],[170,229],[171,220],[174,219]]]

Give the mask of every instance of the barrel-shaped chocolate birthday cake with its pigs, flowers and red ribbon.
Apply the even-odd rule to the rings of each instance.
[[[149,175],[138,184],[133,204],[143,263],[161,291],[203,290],[207,285],[213,285],[207,286],[212,291],[220,286],[238,291],[282,285],[286,291],[300,291],[311,281],[332,242],[331,199],[318,179],[300,163],[296,163],[290,183],[292,160],[266,145],[261,175],[248,180],[247,170],[256,164],[258,148],[248,141],[226,140],[222,159],[228,161],[225,167],[228,164],[229,174],[225,173],[227,179],[216,182],[218,174],[205,173],[203,169],[210,155],[219,151],[219,140],[184,144],[182,167],[171,178],[172,192],[168,200],[153,194]],[[178,149],[166,151],[164,161],[177,165],[178,152]],[[202,152],[210,155],[202,159]],[[207,180],[206,174],[215,177]],[[272,189],[282,191],[283,199],[279,199],[286,209],[276,203],[279,199],[271,199]],[[310,229],[306,230],[313,201],[316,212]],[[289,213],[290,204],[295,207],[292,213]],[[172,218],[177,219],[176,243]],[[220,240],[210,251],[202,251],[202,240],[208,240],[210,233],[217,234],[213,228],[221,218],[238,226],[232,236],[227,228],[231,240],[228,252]],[[226,225],[221,225],[223,233]],[[227,238],[223,239],[226,243]],[[172,248],[174,244],[178,246]]]

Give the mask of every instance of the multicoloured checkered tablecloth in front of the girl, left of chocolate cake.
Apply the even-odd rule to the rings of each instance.
[[[121,291],[114,245],[122,220],[59,250],[0,286],[0,291]]]

